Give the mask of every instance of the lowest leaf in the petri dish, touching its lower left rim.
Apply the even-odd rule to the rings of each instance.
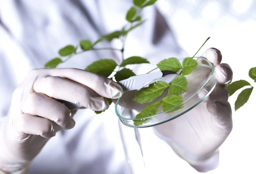
[[[158,110],[157,108],[161,104],[161,102],[162,101],[159,101],[159,102],[153,103],[151,105],[148,105],[140,112],[140,114],[137,114],[135,118],[145,118],[145,117],[149,117],[149,116],[157,114],[157,110]],[[141,119],[141,120],[134,120],[134,126],[143,125],[145,123],[150,122],[152,119],[153,119],[153,117]]]

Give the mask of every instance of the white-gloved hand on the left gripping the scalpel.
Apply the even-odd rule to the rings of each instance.
[[[70,109],[55,99],[95,111],[109,107],[104,97],[121,97],[112,80],[75,68],[35,69],[12,97],[8,117],[0,120],[0,171],[26,173],[49,138],[75,126]]]

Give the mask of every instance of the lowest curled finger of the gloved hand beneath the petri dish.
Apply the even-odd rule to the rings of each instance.
[[[230,103],[207,103],[206,107],[209,113],[213,116],[218,128],[220,128],[222,131],[224,130],[231,132],[233,123]]]

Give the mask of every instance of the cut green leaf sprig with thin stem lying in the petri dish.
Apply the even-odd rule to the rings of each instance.
[[[209,40],[209,38],[210,37],[208,37],[207,40]],[[204,46],[207,40],[198,49],[198,51]],[[195,55],[198,53],[198,51],[195,53]],[[133,100],[137,101],[138,103],[148,103],[155,100],[160,95],[162,95],[166,88],[169,88],[164,94],[164,97],[162,100],[146,106],[139,114],[136,115],[135,117],[136,119],[137,118],[141,118],[141,119],[133,120],[134,126],[140,126],[150,122],[153,119],[153,117],[150,117],[150,116],[157,114],[158,107],[160,106],[160,104],[162,104],[163,111],[167,111],[176,106],[170,111],[167,111],[167,113],[171,113],[183,108],[183,104],[180,104],[183,102],[183,99],[180,96],[180,94],[187,91],[187,80],[185,75],[191,74],[193,69],[198,65],[196,60],[193,59],[195,55],[193,57],[186,57],[182,62],[182,66],[180,64],[180,61],[176,57],[164,59],[157,64],[157,67],[161,71],[169,70],[169,71],[174,71],[176,73],[180,70],[181,71],[178,74],[178,76],[176,76],[172,80],[171,85],[169,85],[169,83],[166,83],[164,81],[157,81],[157,82],[151,83],[148,87],[141,88],[139,91],[137,91]],[[150,117],[150,118],[145,118],[145,117]]]

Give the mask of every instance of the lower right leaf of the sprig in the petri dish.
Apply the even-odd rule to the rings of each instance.
[[[183,102],[182,97],[180,97],[179,95],[172,95],[169,97],[164,97],[163,104],[162,104],[163,111],[167,111],[168,109],[173,108],[174,106],[177,106],[178,104],[180,104],[182,102]],[[176,108],[173,108],[172,110],[168,111],[167,113],[177,111],[180,108],[183,108],[183,104],[180,106],[177,106]]]

